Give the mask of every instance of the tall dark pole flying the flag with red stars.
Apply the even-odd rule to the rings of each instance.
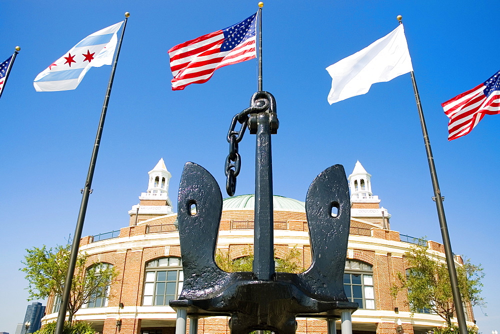
[[[95,162],[97,160],[97,153],[99,151],[100,138],[102,136],[102,129],[104,127],[104,120],[106,118],[107,104],[109,103],[109,96],[111,95],[111,87],[113,85],[114,72],[116,71],[116,64],[118,63],[118,56],[120,55],[121,41],[123,40],[123,34],[125,32],[126,21],[130,13],[125,12],[125,21],[123,23],[123,29],[121,30],[120,39],[118,41],[118,49],[116,51],[116,56],[114,58],[113,66],[111,68],[111,74],[109,76],[109,81],[107,84],[106,95],[104,97],[104,103],[102,104],[102,111],[100,114],[99,125],[97,126],[97,134],[95,135],[95,142],[92,150],[92,156],[90,158],[90,164],[88,166],[87,178],[85,180],[85,187],[80,189],[82,193],[80,210],[78,212],[78,218],[76,219],[76,227],[73,234],[73,242],[71,244],[71,252],[69,255],[69,263],[66,271],[66,278],[64,280],[64,288],[61,295],[61,304],[59,308],[59,313],[57,315],[57,324],[55,327],[55,334],[62,334],[62,329],[64,326],[64,320],[66,318],[67,305],[69,302],[69,294],[71,292],[71,282],[74,275],[74,267],[76,264],[76,258],[78,256],[78,248],[80,244],[81,231],[83,229],[83,221],[85,220],[85,213],[87,210],[88,197],[92,193],[90,188],[92,185],[92,178],[95,169]]]

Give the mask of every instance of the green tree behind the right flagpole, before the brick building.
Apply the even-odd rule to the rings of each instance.
[[[422,239],[422,244],[427,244]],[[395,296],[398,291],[408,292],[408,303],[412,312],[419,309],[430,309],[441,316],[448,327],[451,327],[451,318],[455,312],[451,284],[446,263],[426,246],[416,245],[404,253],[409,269],[406,273],[398,272],[397,280],[392,287]],[[484,305],[481,292],[481,278],[484,276],[482,267],[474,265],[467,259],[463,265],[456,265],[458,288],[462,295],[463,303],[471,305]]]

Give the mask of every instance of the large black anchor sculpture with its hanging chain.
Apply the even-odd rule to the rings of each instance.
[[[234,131],[235,120],[242,123],[240,131]],[[239,172],[237,142],[247,122],[250,133],[257,137],[253,272],[229,273],[215,264],[222,194],[206,169],[187,162],[178,195],[184,283],[178,300],[171,300],[170,306],[195,317],[230,316],[229,328],[233,334],[247,334],[252,330],[295,333],[297,316],[335,320],[342,312],[353,312],[358,305],[348,301],[343,289],[350,222],[343,166],[336,164],[323,170],[307,191],[305,209],[311,266],[298,274],[274,272],[270,135],[276,133],[277,116],[270,93],[256,92],[250,107],[233,118],[228,134],[230,157],[226,162],[230,194],[234,193],[234,174],[237,176]],[[239,139],[237,157],[232,136]]]

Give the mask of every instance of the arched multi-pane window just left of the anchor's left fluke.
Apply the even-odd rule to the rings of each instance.
[[[142,305],[168,305],[182,290],[184,274],[179,257],[162,257],[146,263]]]

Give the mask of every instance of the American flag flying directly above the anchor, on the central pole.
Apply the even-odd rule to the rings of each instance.
[[[206,82],[217,68],[255,58],[256,18],[257,13],[169,49],[172,90]]]

